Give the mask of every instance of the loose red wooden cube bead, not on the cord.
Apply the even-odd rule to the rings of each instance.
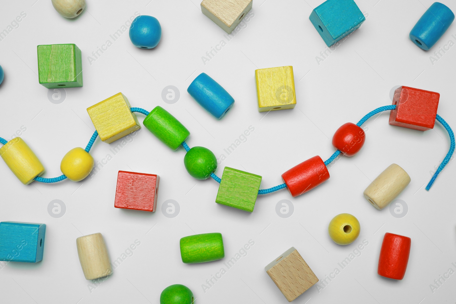
[[[159,181],[155,174],[119,171],[114,207],[155,211]]]

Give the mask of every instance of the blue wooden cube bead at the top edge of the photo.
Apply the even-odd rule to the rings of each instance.
[[[327,46],[356,30],[366,20],[353,0],[327,0],[309,16]]]

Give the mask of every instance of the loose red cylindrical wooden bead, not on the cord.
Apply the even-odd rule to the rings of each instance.
[[[409,263],[411,239],[398,234],[385,233],[378,258],[378,274],[402,280]]]

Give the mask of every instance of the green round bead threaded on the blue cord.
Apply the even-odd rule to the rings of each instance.
[[[198,180],[207,179],[217,169],[217,159],[211,150],[193,147],[184,157],[185,169]]]

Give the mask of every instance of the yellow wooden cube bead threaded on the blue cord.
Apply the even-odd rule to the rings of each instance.
[[[100,139],[108,144],[141,128],[122,93],[87,108],[87,112]]]

